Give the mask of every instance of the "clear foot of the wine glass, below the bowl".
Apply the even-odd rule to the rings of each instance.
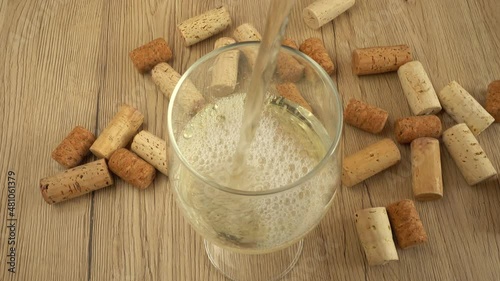
[[[233,281],[274,281],[283,278],[302,254],[303,240],[268,254],[241,254],[205,240],[208,258],[222,274]]]

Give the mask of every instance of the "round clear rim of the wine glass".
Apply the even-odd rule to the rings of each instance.
[[[215,182],[211,180],[210,178],[200,174],[195,168],[192,167],[192,165],[186,160],[184,157],[184,154],[182,151],[180,151],[179,146],[177,145],[177,140],[174,136],[173,132],[173,126],[172,126],[172,111],[173,111],[173,105],[175,103],[175,99],[177,97],[177,94],[179,93],[179,89],[181,88],[181,85],[188,79],[188,77],[191,75],[191,73],[201,64],[205,63],[207,60],[219,55],[220,53],[230,51],[233,49],[237,49],[240,47],[244,46],[260,46],[259,41],[248,41],[248,42],[237,42],[233,43],[224,47],[221,47],[219,49],[213,50],[205,55],[203,55],[201,58],[196,60],[195,63],[193,63],[187,70],[184,72],[184,74],[181,76],[177,84],[175,85],[174,91],[172,93],[172,96],[170,97],[170,101],[168,104],[168,111],[167,111],[167,131],[168,131],[168,137],[169,137],[169,142],[171,147],[174,149],[176,157],[178,157],[182,164],[186,166],[191,173],[195,175],[199,180],[203,181],[204,183],[207,183],[208,185],[215,187],[221,191],[231,193],[231,194],[236,194],[236,195],[246,195],[246,196],[261,196],[261,195],[269,195],[269,194],[276,194],[280,192],[284,192],[290,189],[293,189],[294,187],[297,187],[304,182],[308,181],[311,179],[314,175],[316,175],[325,165],[326,163],[330,160],[330,157],[333,156],[334,152],[339,148],[340,146],[340,140],[341,140],[341,134],[343,130],[343,107],[342,107],[342,100],[340,97],[340,93],[338,92],[336,84],[333,82],[332,78],[330,75],[321,67],[316,61],[311,59],[309,56],[305,55],[304,53],[290,48],[288,46],[281,46],[281,50],[284,50],[285,52],[291,53],[295,56],[299,56],[301,59],[307,61],[313,69],[319,74],[319,76],[322,78],[323,82],[326,84],[327,88],[330,88],[333,90],[333,95],[334,95],[334,101],[338,105],[338,113],[337,117],[339,120],[339,126],[337,128],[337,131],[335,132],[335,136],[332,139],[332,143],[330,147],[328,148],[327,152],[319,161],[318,164],[314,166],[312,170],[310,170],[307,174],[302,176],[300,179],[291,182],[289,184],[286,184],[284,186],[281,186],[279,188],[274,188],[270,190],[263,190],[263,191],[245,191],[245,190],[238,190],[234,189],[222,184],[219,184],[218,182]],[[170,177],[170,176],[169,176]]]

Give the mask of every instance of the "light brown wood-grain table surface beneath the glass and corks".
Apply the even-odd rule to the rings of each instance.
[[[346,126],[345,155],[382,137],[393,138],[394,120],[410,115],[397,74],[352,74],[355,48],[408,44],[437,91],[456,80],[480,103],[487,85],[500,79],[498,0],[358,0],[321,30],[302,21],[301,11],[311,1],[297,1],[288,36],[298,42],[311,36],[324,40],[337,66],[332,78],[344,104],[356,97],[390,112],[381,135]],[[236,26],[250,22],[263,31],[267,3],[0,2],[0,280],[225,280],[183,219],[166,176],[159,175],[144,191],[116,179],[112,187],[53,206],[43,201],[38,182],[63,170],[50,153],[74,126],[99,134],[122,103],[144,113],[145,129],[166,136],[168,100],[149,75],[134,69],[130,50],[164,37],[174,52],[171,64],[182,73]],[[229,7],[233,25],[184,47],[176,23],[220,4]],[[454,124],[446,113],[439,116],[444,128]],[[497,170],[499,138],[498,123],[478,137]],[[409,146],[399,147],[397,166],[353,188],[339,188],[333,207],[306,237],[304,255],[284,280],[500,279],[500,181],[496,177],[468,186],[444,146],[444,197],[416,202],[428,243],[398,249],[397,262],[367,265],[353,213],[413,198]],[[11,210],[9,171],[15,173],[16,186]],[[9,265],[11,248],[15,264]],[[14,265],[16,272],[9,272]]]

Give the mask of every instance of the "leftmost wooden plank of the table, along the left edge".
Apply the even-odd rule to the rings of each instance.
[[[0,188],[1,280],[87,279],[91,196],[49,206],[38,181],[63,170],[50,153],[74,126],[94,130],[100,12],[100,1],[2,6],[0,181],[5,186],[7,171],[16,173],[17,221],[12,274],[6,265],[7,189]]]

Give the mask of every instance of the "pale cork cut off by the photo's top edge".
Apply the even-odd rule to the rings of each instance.
[[[354,0],[317,0],[302,11],[307,26],[318,29],[354,5]]]

